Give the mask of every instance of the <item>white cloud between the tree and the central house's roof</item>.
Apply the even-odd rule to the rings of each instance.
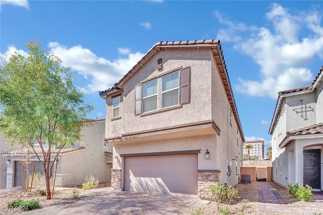
[[[128,53],[126,58],[110,61],[97,57],[81,45],[66,47],[58,42],[49,42],[50,50],[64,64],[71,66],[88,79],[90,92],[105,90],[118,82],[143,56],[143,53]]]

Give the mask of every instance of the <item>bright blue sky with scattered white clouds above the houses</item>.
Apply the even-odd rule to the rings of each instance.
[[[220,39],[245,138],[267,147],[278,91],[310,85],[323,65],[319,1],[1,0],[0,7],[0,58],[24,53],[37,38],[75,69],[93,119],[104,118],[98,91],[155,42]]]

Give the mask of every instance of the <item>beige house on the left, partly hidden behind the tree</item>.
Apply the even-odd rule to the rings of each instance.
[[[74,147],[63,148],[59,154],[55,186],[74,186],[83,183],[86,176],[97,177],[100,182],[111,181],[112,145],[104,142],[105,120],[93,120],[82,131],[82,140],[74,144]],[[39,146],[35,145],[38,155],[42,155]],[[23,154],[22,154],[23,152]],[[51,160],[57,155],[58,149],[51,150]],[[26,160],[26,150],[16,150],[2,153],[2,157],[8,160],[7,164],[7,188],[22,186],[23,173],[20,160]],[[40,156],[42,158],[42,156]],[[31,150],[30,173],[33,164],[36,164],[35,172],[42,172],[42,165]],[[52,170],[55,173],[56,165]],[[26,171],[25,171],[26,173]]]

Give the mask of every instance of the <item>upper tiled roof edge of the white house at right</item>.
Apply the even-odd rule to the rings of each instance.
[[[295,88],[295,89],[289,89],[289,90],[284,90],[284,91],[279,91],[278,92],[278,99],[277,99],[277,102],[276,102],[276,107],[275,107],[274,115],[273,115],[273,118],[272,118],[272,123],[271,123],[271,126],[270,126],[269,131],[268,131],[269,134],[273,133],[274,127],[276,125],[278,110],[281,108],[281,105],[283,103],[282,95],[287,95],[287,94],[293,93],[293,92],[301,92],[303,90],[312,89],[315,86],[315,84],[318,83],[319,77],[322,77],[322,76],[323,76],[323,65],[322,65],[321,69],[319,70],[319,72],[317,73],[316,77],[314,78],[314,80],[313,80],[313,82],[312,82],[312,84],[310,86],[300,87],[300,88]]]

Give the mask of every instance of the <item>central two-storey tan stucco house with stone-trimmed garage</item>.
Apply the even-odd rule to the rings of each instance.
[[[157,42],[106,101],[112,186],[211,197],[235,185],[244,141],[219,40]]]

